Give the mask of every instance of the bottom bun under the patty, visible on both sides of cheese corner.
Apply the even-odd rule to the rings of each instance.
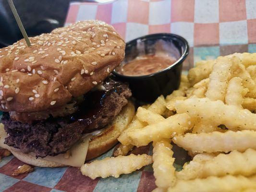
[[[134,110],[134,105],[129,101],[128,104],[122,108],[120,114],[116,116],[115,120],[110,123],[110,125],[108,125],[101,132],[91,138],[91,141],[89,142],[86,160],[90,160],[97,156],[100,156],[101,154],[107,152],[115,144],[117,144],[117,138],[132,121],[135,113]],[[3,144],[4,138],[7,136],[7,133],[3,129],[3,124],[1,124],[1,126],[2,129],[0,129],[0,147],[10,150],[12,154],[16,156],[20,161],[37,167],[54,168],[66,166],[61,163],[44,160],[42,158],[36,158],[35,156],[32,156],[30,154],[24,154],[12,147],[9,147],[6,144]]]

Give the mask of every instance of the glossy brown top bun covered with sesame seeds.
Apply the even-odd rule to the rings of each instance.
[[[101,21],[84,21],[0,49],[0,110],[56,108],[102,82],[124,57],[125,43]]]

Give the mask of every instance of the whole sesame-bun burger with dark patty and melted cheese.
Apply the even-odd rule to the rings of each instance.
[[[117,143],[134,116],[128,85],[110,73],[125,43],[83,21],[0,49],[0,147],[40,167],[80,167]]]

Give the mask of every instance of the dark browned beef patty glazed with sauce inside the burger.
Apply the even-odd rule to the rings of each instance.
[[[104,90],[87,93],[78,110],[65,117],[50,117],[28,124],[11,120],[9,113],[4,112],[2,123],[9,135],[4,143],[23,153],[33,152],[37,157],[65,153],[84,133],[109,124],[132,95],[127,84],[110,78],[102,85]]]

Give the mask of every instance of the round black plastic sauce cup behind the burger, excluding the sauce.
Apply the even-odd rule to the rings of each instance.
[[[179,52],[177,61],[170,67],[153,74],[143,76],[126,76],[113,71],[113,75],[123,82],[128,82],[133,96],[142,102],[153,102],[158,96],[167,96],[177,89],[181,82],[182,64],[189,53],[188,42],[175,34],[160,33],[142,36],[126,43],[125,59],[122,64],[136,58],[141,52],[143,54],[152,54],[156,52],[156,43],[165,42],[166,45],[174,46],[176,52]],[[167,46],[168,47],[168,46]],[[167,49],[166,52],[172,50]],[[121,65],[122,65],[121,64]]]

